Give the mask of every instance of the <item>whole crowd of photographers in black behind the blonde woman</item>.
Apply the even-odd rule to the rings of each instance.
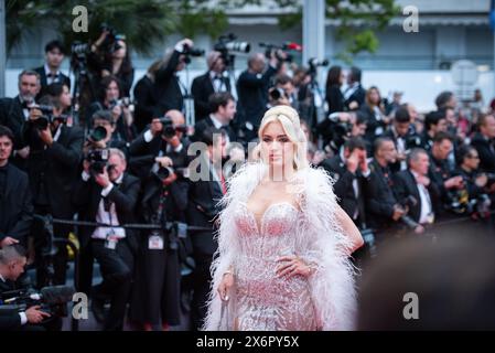
[[[333,176],[342,207],[369,246],[428,234],[442,218],[489,216],[491,111],[460,107],[444,92],[423,117],[400,94],[386,101],[377,87],[365,89],[357,67],[345,90],[344,71],[330,67],[323,96],[315,77],[327,62],[298,67],[290,54],[300,51],[297,44],[262,46],[234,81],[235,53],[250,45],[220,38],[206,55],[206,73],[192,82],[191,105],[179,73],[204,54],[191,40],[149,67],[133,99],[125,36],[104,26],[92,45],[74,45],[73,85],[60,69],[63,45],[49,43],[45,64],[19,75],[19,95],[0,99],[2,300],[19,288],[65,285],[64,239],[75,237],[76,289],[90,297],[104,329],[122,330],[126,318],[137,329],[168,329],[184,324],[184,312],[192,329],[201,328],[217,202],[229,176],[222,167],[247,160],[263,113],[276,105],[300,113],[308,159]],[[191,153],[194,142],[202,148]],[[95,260],[100,284],[93,282]],[[26,264],[35,284],[23,274]],[[0,329],[32,328],[50,314],[35,304],[2,311],[4,302]]]

